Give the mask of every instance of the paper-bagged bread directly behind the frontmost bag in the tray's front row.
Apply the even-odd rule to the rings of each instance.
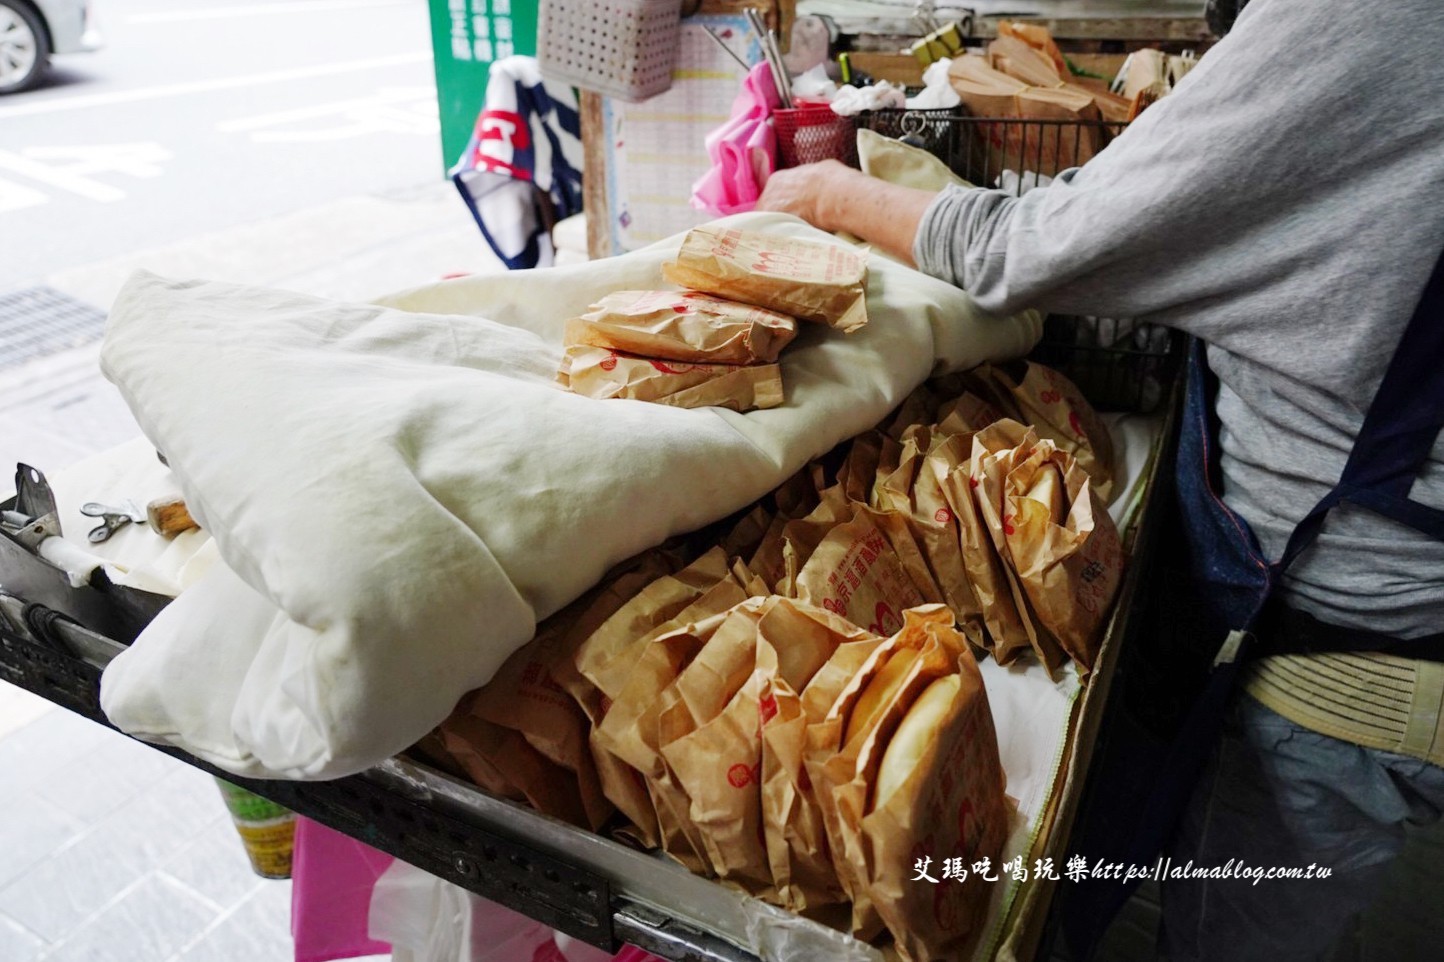
[[[827,826],[833,867],[852,898],[858,937],[871,940],[882,929],[862,835],[882,748],[907,706],[933,680],[956,673],[966,650],[946,607],[907,611],[902,628],[878,646],[826,716],[807,727],[807,773]]]

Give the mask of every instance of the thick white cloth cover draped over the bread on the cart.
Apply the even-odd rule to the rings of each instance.
[[[839,243],[778,214],[725,222]],[[761,497],[930,373],[1021,355],[1041,332],[1035,313],[982,315],[875,257],[871,324],[807,325],[781,407],[560,390],[566,319],[667,286],[680,240],[375,305],[131,277],[103,367],[224,563],[105,670],[110,719],[240,774],[365,768],[611,565]]]

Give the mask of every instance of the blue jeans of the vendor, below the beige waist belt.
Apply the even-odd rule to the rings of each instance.
[[[1203,774],[1173,867],[1301,868],[1328,878],[1162,884],[1171,962],[1324,959],[1379,891],[1405,823],[1444,812],[1444,768],[1297,725],[1242,692]],[[1444,910],[1444,907],[1441,907]],[[1444,956],[1441,956],[1444,958]]]

